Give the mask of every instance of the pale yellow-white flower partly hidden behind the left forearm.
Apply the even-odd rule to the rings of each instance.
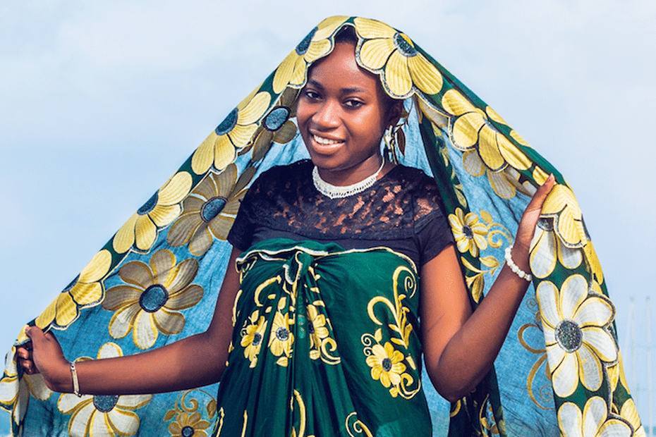
[[[121,357],[121,347],[105,343],[98,359]],[[88,358],[87,358],[88,359]],[[83,395],[66,393],[57,400],[63,414],[72,414],[68,421],[71,437],[133,436],[139,429],[139,417],[134,410],[146,405],[152,395]]]

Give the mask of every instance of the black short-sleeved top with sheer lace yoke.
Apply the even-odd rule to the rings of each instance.
[[[345,249],[386,246],[421,265],[453,241],[435,181],[396,166],[372,187],[330,199],[312,184],[312,161],[262,173],[244,197],[228,240],[239,250],[267,238],[336,242]]]

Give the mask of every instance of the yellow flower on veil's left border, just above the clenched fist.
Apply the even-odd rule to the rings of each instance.
[[[77,278],[63,289],[57,298],[37,317],[35,324],[46,328],[52,321],[68,326],[78,318],[80,308],[97,304],[102,299],[100,282],[111,266],[109,250],[101,250],[89,261]]]

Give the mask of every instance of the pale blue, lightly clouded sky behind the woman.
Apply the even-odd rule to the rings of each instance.
[[[0,4],[2,349],[226,113],[336,14],[407,32],[559,168],[595,241],[620,340],[635,296],[645,344],[656,244],[655,2],[224,3]],[[646,421],[638,352],[635,395]]]

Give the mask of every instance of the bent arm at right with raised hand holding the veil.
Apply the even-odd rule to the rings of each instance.
[[[521,218],[512,259],[530,271],[528,250],[540,209],[554,185],[549,176]],[[454,245],[421,270],[421,319],[426,371],[435,389],[455,401],[470,393],[492,368],[528,281],[504,266],[475,312],[472,312]]]

